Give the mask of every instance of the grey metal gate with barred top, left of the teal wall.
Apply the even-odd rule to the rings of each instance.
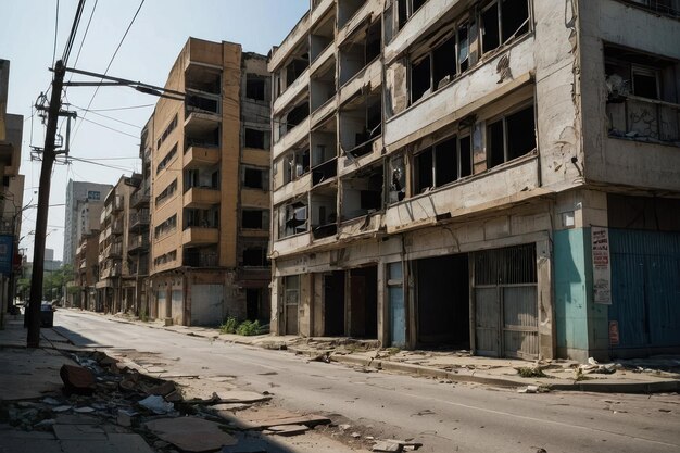
[[[474,254],[475,353],[537,358],[536,244]]]

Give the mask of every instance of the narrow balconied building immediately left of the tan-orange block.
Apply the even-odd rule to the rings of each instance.
[[[126,281],[127,300],[133,301],[134,312],[141,318],[151,316],[149,306],[149,226],[151,213],[151,151],[153,149],[153,117],[141,133],[139,158],[141,159],[141,181],[130,197],[129,237],[127,246],[130,276]]]

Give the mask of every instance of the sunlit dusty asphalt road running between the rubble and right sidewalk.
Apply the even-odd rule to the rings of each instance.
[[[243,389],[267,390],[284,407],[338,414],[376,438],[413,438],[424,443],[419,451],[680,451],[678,394],[519,394],[481,385],[362,373],[85,312],[58,311],[54,324],[77,345],[150,353],[167,375],[236,376]]]

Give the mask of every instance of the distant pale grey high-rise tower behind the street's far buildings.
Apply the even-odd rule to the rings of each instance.
[[[84,234],[98,228],[103,199],[111,191],[110,184],[74,181],[66,185],[66,211],[64,218],[64,264],[75,263],[76,248]],[[99,206],[97,206],[99,204]],[[87,215],[83,209],[88,207]]]

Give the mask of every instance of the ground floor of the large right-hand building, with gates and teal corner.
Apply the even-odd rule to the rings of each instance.
[[[680,228],[620,228],[617,197],[574,191],[279,257],[273,330],[527,360],[678,351]]]

